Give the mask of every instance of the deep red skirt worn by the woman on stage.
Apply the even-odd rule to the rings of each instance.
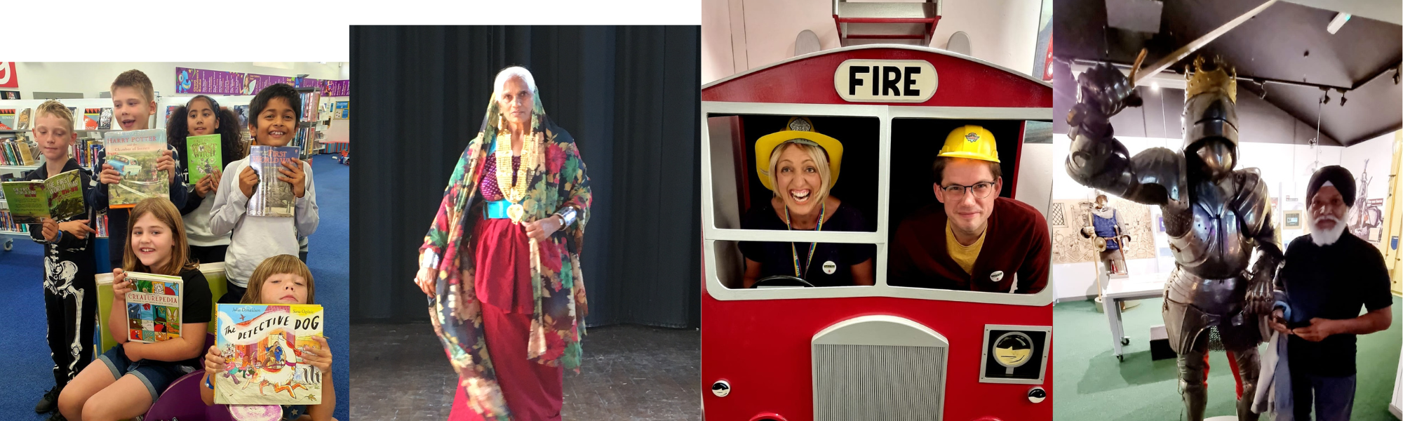
[[[473,229],[473,288],[483,302],[483,335],[512,420],[560,420],[564,370],[526,359],[530,319],[536,310],[532,302],[530,243],[526,230],[509,219],[484,219]],[[543,247],[544,251],[549,248],[551,247]],[[558,254],[542,255],[542,262],[549,262],[550,258],[560,260]],[[462,385],[453,396],[449,420],[485,420],[467,407],[467,392]]]

